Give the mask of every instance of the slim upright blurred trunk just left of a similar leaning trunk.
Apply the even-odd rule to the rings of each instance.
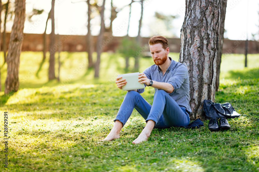
[[[90,0],[87,0],[88,5],[88,24],[87,24],[87,54],[88,54],[88,68],[93,67],[93,58],[92,58],[92,35],[91,35],[91,4]]]

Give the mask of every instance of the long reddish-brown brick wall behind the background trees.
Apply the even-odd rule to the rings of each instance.
[[[8,47],[10,33],[6,33],[6,44]],[[116,52],[117,47],[120,45],[122,37],[113,37],[111,35],[105,35],[101,45],[104,52]],[[130,38],[131,39],[131,38]],[[93,45],[96,45],[97,36],[93,36]],[[142,38],[142,49],[143,51],[149,51],[148,49],[149,38]],[[49,35],[47,35],[47,44],[49,43]],[[168,39],[170,52],[180,51],[180,39],[169,38]],[[68,52],[82,52],[86,50],[86,36],[81,35],[56,35],[55,49],[61,46],[61,51]],[[47,45],[48,47],[48,45]],[[96,46],[95,50],[96,50]],[[3,50],[3,49],[1,49]],[[43,50],[43,34],[24,34],[24,41],[22,51],[42,51]],[[223,53],[238,53],[244,54],[245,52],[245,41],[243,40],[229,40],[224,39]],[[259,53],[259,42],[249,41],[250,54]]]

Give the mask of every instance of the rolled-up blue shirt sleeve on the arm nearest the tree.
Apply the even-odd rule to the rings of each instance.
[[[167,81],[167,83],[174,87],[173,93],[175,93],[177,89],[181,87],[187,77],[189,77],[187,67],[184,64],[177,66],[174,70],[174,73],[172,73],[172,77]]]

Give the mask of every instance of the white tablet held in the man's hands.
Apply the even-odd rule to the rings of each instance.
[[[133,90],[133,89],[142,89],[145,88],[144,84],[140,84],[139,81],[139,72],[135,73],[126,73],[118,75],[118,77],[121,77],[121,79],[126,79],[127,83],[126,85],[122,86],[123,90]]]

